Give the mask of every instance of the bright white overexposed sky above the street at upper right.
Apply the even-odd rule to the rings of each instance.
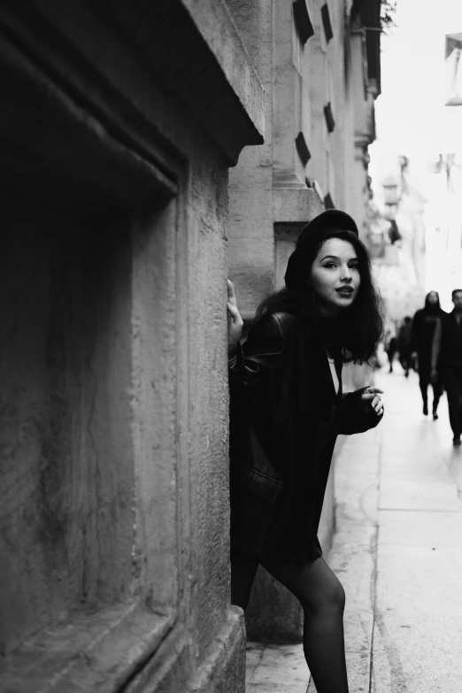
[[[430,174],[427,162],[453,153],[457,172],[462,170],[462,105],[445,105],[444,65],[445,35],[462,33],[462,0],[397,0],[395,21],[397,27],[381,36],[381,96],[375,102],[377,140],[370,147],[369,171],[379,201],[383,178],[399,176],[397,158],[410,159],[412,181],[428,203],[426,290],[438,290],[443,308],[450,310],[450,290],[462,274],[460,196],[448,197],[445,173]],[[443,232],[435,235],[435,227]],[[457,252],[448,238],[457,242]]]

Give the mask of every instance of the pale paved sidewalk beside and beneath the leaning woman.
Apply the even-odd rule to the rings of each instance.
[[[350,691],[462,693],[462,450],[445,397],[424,417],[417,375],[396,370],[377,376],[385,419],[349,436],[335,468],[327,561],[347,594]],[[300,645],[250,643],[248,661],[249,693],[306,686]]]

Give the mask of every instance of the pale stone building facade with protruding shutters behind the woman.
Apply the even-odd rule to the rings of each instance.
[[[281,289],[300,229],[325,208],[349,212],[367,242],[367,147],[380,93],[380,2],[228,0],[265,87],[266,136],[230,172],[228,264],[237,304],[251,320]],[[347,387],[363,370],[345,368]],[[332,479],[321,520],[334,529]],[[260,569],[247,617],[250,635],[300,639],[301,613]]]

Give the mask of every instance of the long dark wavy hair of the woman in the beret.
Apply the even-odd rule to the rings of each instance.
[[[358,294],[335,320],[322,319],[316,295],[310,286],[312,264],[321,246],[329,238],[351,243],[358,257],[361,277]],[[383,304],[381,294],[371,273],[371,261],[366,246],[356,234],[340,229],[327,229],[317,243],[304,248],[306,274],[300,289],[280,289],[266,296],[255,313],[255,321],[267,313],[292,312],[315,321],[335,357],[343,363],[365,363],[371,358],[383,334]]]

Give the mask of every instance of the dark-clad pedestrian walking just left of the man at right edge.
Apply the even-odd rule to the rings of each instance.
[[[419,386],[422,394],[423,412],[428,414],[428,385],[431,382],[433,389],[432,414],[433,419],[438,418],[438,403],[442,396],[443,386],[439,371],[436,371],[432,381],[432,345],[435,336],[435,327],[446,313],[441,309],[440,296],[436,291],[430,291],[425,299],[425,305],[417,311],[412,320],[411,348],[412,360],[417,362],[419,372]]]

